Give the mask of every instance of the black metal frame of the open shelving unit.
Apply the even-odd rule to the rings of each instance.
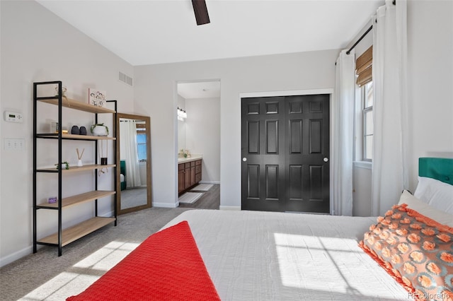
[[[38,97],[38,86],[40,85],[57,85],[58,87],[58,95],[55,96],[49,96],[49,97]],[[62,131],[58,131],[57,134],[38,134],[37,133],[37,123],[38,123],[38,116],[37,116],[37,111],[38,111],[38,101],[40,100],[48,100],[48,99],[55,99],[58,100],[58,124],[62,126],[62,101],[63,101],[63,96],[62,96],[62,81],[43,81],[43,82],[37,82],[33,83],[33,253],[36,253],[38,251],[38,244],[42,245],[47,245],[47,246],[55,246],[58,247],[58,256],[62,256],[62,242],[63,242],[63,237],[62,237],[62,169],[59,168],[58,170],[56,169],[55,171],[52,170],[42,170],[38,169],[37,167],[37,158],[38,158],[38,148],[37,148],[37,140],[38,138],[50,138],[50,139],[57,139],[58,140],[58,162],[61,164],[62,163],[62,141],[63,140],[79,140],[79,141],[93,141],[95,143],[95,164],[98,164],[98,140],[93,140],[93,139],[84,139],[84,138],[69,138],[69,137],[63,137],[62,136]],[[117,101],[116,100],[107,100],[107,102],[111,102],[115,106],[115,113],[113,114],[113,136],[116,136],[116,123],[117,123]],[[95,122],[96,124],[98,123],[98,113],[93,113],[95,114]],[[113,143],[113,162],[116,162],[116,143]],[[113,167],[115,168],[114,175],[116,174],[116,166]],[[95,168],[93,169],[97,171],[98,169]],[[41,172],[47,172],[47,173],[58,173],[58,207],[57,208],[49,208],[46,206],[40,206],[38,205],[38,200],[37,200],[37,175],[38,173]],[[97,172],[95,172],[95,189],[98,189],[98,177],[96,176]],[[113,187],[117,187],[117,178],[114,177],[114,183]],[[115,218],[115,226],[117,225],[117,194],[113,194],[114,198],[114,218]],[[39,209],[47,209],[47,210],[57,210],[58,211],[58,243],[53,244],[53,243],[48,243],[48,242],[39,242],[37,239],[38,235],[38,215],[37,211]],[[98,216],[98,199],[95,199],[95,216]]]

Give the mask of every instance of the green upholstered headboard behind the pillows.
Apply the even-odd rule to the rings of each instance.
[[[453,159],[418,158],[418,175],[453,185]]]

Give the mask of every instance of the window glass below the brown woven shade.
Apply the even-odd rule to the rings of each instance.
[[[361,87],[362,92],[362,133],[363,151],[362,160],[371,161],[373,158],[373,82],[370,81]]]

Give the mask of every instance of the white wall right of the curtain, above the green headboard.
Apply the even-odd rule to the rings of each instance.
[[[410,189],[418,158],[453,158],[453,1],[408,1]]]

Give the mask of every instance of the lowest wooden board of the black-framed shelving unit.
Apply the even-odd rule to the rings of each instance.
[[[82,223],[62,230],[62,247],[79,240],[79,238],[90,234],[98,229],[103,228],[105,225],[113,223],[115,218],[101,218],[95,217],[85,220]],[[38,240],[38,243],[45,244],[58,244],[58,232]]]

